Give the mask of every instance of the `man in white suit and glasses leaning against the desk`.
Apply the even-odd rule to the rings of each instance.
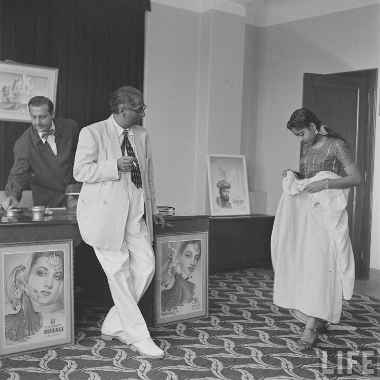
[[[165,224],[156,206],[149,135],[136,125],[145,116],[144,100],[125,86],[111,94],[109,106],[107,120],[82,129],[74,160],[74,178],[83,182],[79,229],[94,247],[115,303],[101,337],[119,339],[144,357],[163,358],[137,306],[155,271],[152,219]]]

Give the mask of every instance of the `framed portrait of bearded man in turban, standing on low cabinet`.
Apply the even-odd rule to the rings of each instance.
[[[249,193],[245,156],[207,155],[211,215],[247,215]]]

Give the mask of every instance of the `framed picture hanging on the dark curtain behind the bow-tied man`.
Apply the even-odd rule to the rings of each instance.
[[[58,68],[0,61],[0,120],[30,123],[28,102],[46,96],[53,104]]]

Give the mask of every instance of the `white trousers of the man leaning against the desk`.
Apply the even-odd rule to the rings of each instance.
[[[94,247],[95,254],[107,276],[115,306],[104,319],[101,332],[120,336],[127,344],[150,337],[137,306],[155,272],[155,256],[146,227],[142,188],[130,180],[128,218],[121,251]]]

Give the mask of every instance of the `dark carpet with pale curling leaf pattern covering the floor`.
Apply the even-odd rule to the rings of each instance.
[[[165,359],[144,359],[117,341],[100,339],[107,312],[75,305],[75,345],[0,360],[0,379],[211,380],[380,378],[380,300],[354,295],[342,324],[300,353],[300,324],[272,303],[271,271],[222,272],[209,279],[209,316],[151,328]]]

